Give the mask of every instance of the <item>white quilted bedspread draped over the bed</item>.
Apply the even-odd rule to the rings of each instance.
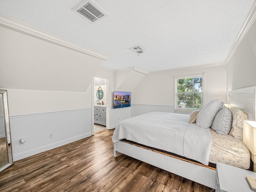
[[[122,120],[112,141],[131,140],[208,165],[212,137],[209,128],[190,124],[186,114],[150,112]]]

